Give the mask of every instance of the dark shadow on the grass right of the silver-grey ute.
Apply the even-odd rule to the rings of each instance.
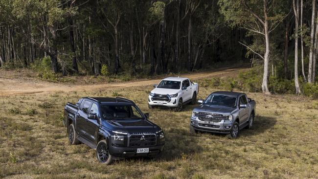
[[[251,136],[262,134],[265,131],[272,129],[276,124],[277,119],[273,117],[260,116],[256,115],[254,119],[253,129],[249,130],[248,128],[242,129],[240,131],[241,136]]]

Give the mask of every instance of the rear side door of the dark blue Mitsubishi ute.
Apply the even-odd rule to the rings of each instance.
[[[76,113],[76,131],[81,136],[87,138],[87,132],[86,132],[86,120],[89,113],[89,110],[91,109],[91,101],[85,100],[82,103],[82,106],[80,106],[79,110]]]

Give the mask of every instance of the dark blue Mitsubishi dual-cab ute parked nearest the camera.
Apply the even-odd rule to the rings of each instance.
[[[136,104],[124,98],[85,97],[67,103],[63,124],[70,144],[82,142],[96,149],[97,159],[110,164],[124,157],[156,157],[164,134]]]

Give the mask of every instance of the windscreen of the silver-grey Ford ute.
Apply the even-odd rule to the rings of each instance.
[[[235,107],[236,106],[236,97],[211,94],[204,101],[204,104],[205,105],[215,105],[215,106]]]

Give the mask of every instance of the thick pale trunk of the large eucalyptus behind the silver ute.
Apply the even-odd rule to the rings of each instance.
[[[267,17],[267,0],[264,0],[264,29],[265,29],[265,55],[264,55],[264,73],[263,73],[263,83],[262,90],[265,94],[271,94],[267,87],[268,81],[268,64],[270,61],[270,34],[268,31],[268,17]]]

